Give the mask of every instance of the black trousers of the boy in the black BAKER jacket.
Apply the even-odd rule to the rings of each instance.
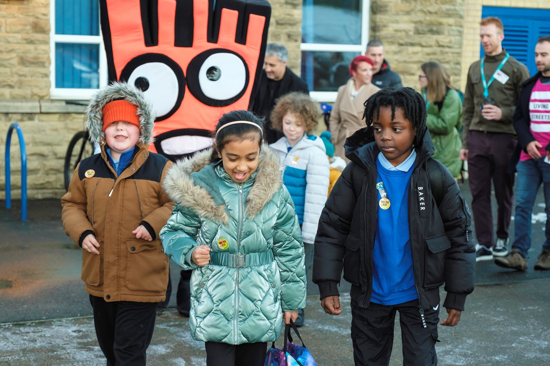
[[[418,300],[398,305],[371,302],[361,308],[351,300],[351,340],[355,366],[387,366],[392,354],[395,313],[399,311],[404,366],[437,365],[436,341],[439,306],[424,309],[422,324]]]

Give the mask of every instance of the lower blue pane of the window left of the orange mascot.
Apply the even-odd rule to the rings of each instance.
[[[56,43],[56,88],[98,89],[100,45]]]

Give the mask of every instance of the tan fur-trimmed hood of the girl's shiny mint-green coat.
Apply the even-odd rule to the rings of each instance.
[[[166,174],[164,190],[171,201],[189,207],[197,215],[226,225],[229,215],[217,184],[214,165],[210,165],[213,148],[178,161]],[[246,196],[246,213],[255,217],[273,195],[281,189],[281,162],[266,144],[262,145],[254,183]]]

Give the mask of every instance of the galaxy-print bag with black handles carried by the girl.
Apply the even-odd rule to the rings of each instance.
[[[295,345],[292,342],[290,335],[290,326],[302,342],[302,345]],[[275,342],[271,344],[271,348],[267,351],[266,362],[264,366],[317,366],[313,356],[304,345],[304,341],[298,332],[298,328],[294,322],[290,320],[290,324],[284,326],[284,345],[283,349],[279,350],[275,347]]]

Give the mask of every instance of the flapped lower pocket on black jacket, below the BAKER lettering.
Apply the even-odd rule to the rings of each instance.
[[[426,239],[424,287],[437,288],[445,281],[445,257],[450,248],[447,235]]]

